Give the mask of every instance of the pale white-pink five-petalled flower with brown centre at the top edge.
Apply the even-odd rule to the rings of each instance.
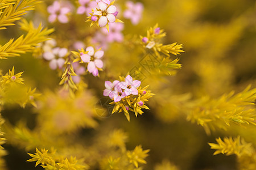
[[[100,25],[100,27],[104,27],[108,22],[115,22],[115,16],[113,13],[115,13],[117,7],[115,7],[114,5],[110,5],[108,7],[107,3],[99,1],[98,8],[100,9],[100,11],[94,11],[93,15],[98,15],[100,17],[100,19],[98,19],[98,24]]]

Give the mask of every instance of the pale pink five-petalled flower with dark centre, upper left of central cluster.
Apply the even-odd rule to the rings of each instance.
[[[94,76],[98,75],[98,69],[103,67],[103,62],[101,61],[101,57],[104,55],[104,51],[98,50],[94,54],[94,48],[92,46],[88,46],[86,48],[86,51],[88,51],[87,54],[82,54],[81,59],[83,62],[87,62],[88,66],[87,69],[89,73],[92,73]]]

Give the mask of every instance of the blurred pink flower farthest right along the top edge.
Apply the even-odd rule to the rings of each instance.
[[[127,10],[123,12],[123,17],[131,19],[131,23],[137,25],[142,17],[143,5],[141,2],[133,3],[131,1],[126,2]]]

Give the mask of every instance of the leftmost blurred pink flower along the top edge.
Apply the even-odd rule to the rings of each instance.
[[[68,23],[67,14],[71,10],[68,7],[61,7],[59,1],[54,1],[52,5],[48,6],[47,11],[50,14],[48,17],[50,23],[55,22],[56,19],[58,19],[60,23]]]

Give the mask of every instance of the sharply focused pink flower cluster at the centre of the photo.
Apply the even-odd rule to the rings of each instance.
[[[113,83],[110,81],[105,82],[106,89],[103,92],[104,96],[109,96],[110,99],[114,99],[114,102],[120,101],[123,97],[129,95],[138,95],[138,87],[141,86],[141,81],[133,80],[130,75],[127,75],[125,82],[119,82],[114,80]]]

